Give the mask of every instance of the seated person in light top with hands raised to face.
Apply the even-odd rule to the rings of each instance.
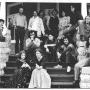
[[[29,31],[28,36],[29,38],[26,40],[27,60],[34,61],[34,52],[38,47],[40,47],[41,40],[36,37],[35,31]]]

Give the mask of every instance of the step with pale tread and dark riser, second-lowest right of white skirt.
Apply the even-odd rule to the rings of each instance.
[[[50,74],[52,82],[72,82],[74,75],[68,74]]]

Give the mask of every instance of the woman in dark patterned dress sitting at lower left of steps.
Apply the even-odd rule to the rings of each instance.
[[[17,59],[17,69],[11,80],[9,80],[9,88],[27,88],[27,83],[31,78],[31,66],[26,60],[25,51],[20,52],[20,58]]]

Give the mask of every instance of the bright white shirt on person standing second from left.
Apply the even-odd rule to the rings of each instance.
[[[38,16],[30,18],[28,29],[37,31],[37,36],[38,37],[41,36],[41,33],[43,35],[45,34],[43,21]]]

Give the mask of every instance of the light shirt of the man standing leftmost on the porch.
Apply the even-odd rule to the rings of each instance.
[[[27,28],[26,16],[20,15],[19,13],[15,16],[15,25]]]

